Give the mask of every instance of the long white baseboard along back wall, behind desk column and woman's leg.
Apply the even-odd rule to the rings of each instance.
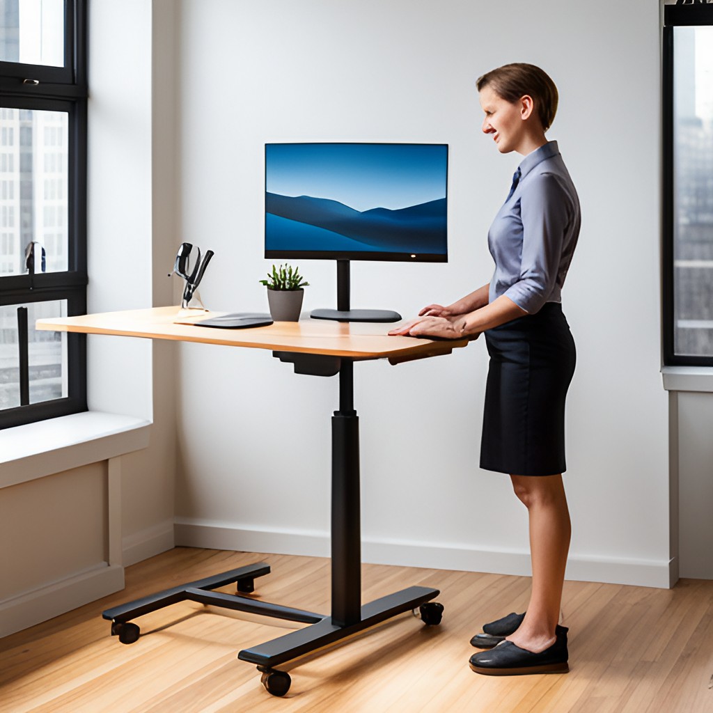
[[[280,555],[329,557],[329,535],[319,532],[252,530],[225,523],[176,518],[175,544],[238,552],[269,552]],[[364,539],[361,559],[365,563],[491,572],[530,576],[530,555],[525,551],[486,550],[466,545]],[[582,582],[634,585],[669,589],[672,568],[669,560],[625,560],[570,555],[565,577]]]

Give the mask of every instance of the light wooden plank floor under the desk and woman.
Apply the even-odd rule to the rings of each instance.
[[[255,595],[329,610],[329,560],[177,548],[128,568],[111,597],[0,640],[0,711],[52,713],[708,713],[713,581],[673,590],[568,582],[569,674],[499,678],[468,668],[482,622],[521,611],[527,578],[364,565],[364,600],[409,585],[441,589],[443,623],[396,617],[292,666],[284,698],[237,651],[286,632],[183,602],[138,620],[122,645],[101,612],[258,560]]]

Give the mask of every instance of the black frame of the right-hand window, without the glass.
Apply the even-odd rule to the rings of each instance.
[[[662,33],[662,356],[664,366],[713,366],[711,356],[676,354],[674,350],[674,28],[713,26],[713,4],[664,6]]]

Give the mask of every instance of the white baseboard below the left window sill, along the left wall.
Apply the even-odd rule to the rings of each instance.
[[[124,588],[124,568],[101,563],[0,602],[0,637],[44,622]]]

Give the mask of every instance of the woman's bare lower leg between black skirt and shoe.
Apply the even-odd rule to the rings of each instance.
[[[572,528],[562,476],[510,476],[530,520],[532,593],[520,628],[508,640],[534,653],[555,642]]]

